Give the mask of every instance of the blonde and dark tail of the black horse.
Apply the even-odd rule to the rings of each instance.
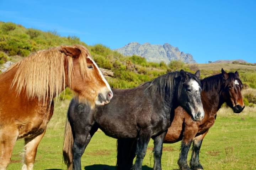
[[[71,125],[69,122],[69,117],[67,117],[62,154],[63,154],[64,163],[66,164],[68,170],[73,169],[73,153],[72,153],[73,143],[74,143],[74,137],[73,137]]]

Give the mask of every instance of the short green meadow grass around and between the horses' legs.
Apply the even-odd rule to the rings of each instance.
[[[62,143],[66,111],[69,101],[59,102],[48,124],[46,135],[39,144],[34,169],[65,169],[62,163]],[[214,126],[204,138],[200,152],[200,161],[205,169],[211,170],[254,170],[256,169],[256,115],[255,108],[246,107],[241,114],[232,113],[229,108],[218,112]],[[143,161],[144,170],[153,166],[153,141],[148,146]],[[178,169],[177,159],[180,142],[164,144],[162,169]],[[12,153],[12,163],[8,170],[21,169],[20,163],[23,140],[16,142]],[[190,153],[188,158],[190,158]],[[189,159],[188,159],[189,160]],[[98,130],[82,156],[82,169],[114,170],[116,164],[116,139],[106,136]]]

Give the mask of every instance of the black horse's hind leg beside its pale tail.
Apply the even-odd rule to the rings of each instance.
[[[80,127],[81,130],[75,132],[74,144],[72,147],[73,151],[73,163],[75,170],[81,170],[81,157],[85,151],[86,146],[89,144],[92,136],[98,130],[97,125]]]

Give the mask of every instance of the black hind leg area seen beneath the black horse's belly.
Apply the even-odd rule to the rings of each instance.
[[[136,156],[135,139],[117,140],[117,170],[130,170]]]

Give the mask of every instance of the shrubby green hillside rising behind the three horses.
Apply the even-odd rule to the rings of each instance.
[[[204,78],[220,73],[221,68],[232,72],[238,70],[245,86],[256,88],[256,66],[238,63],[185,64],[181,61],[172,61],[167,66],[163,62],[147,62],[145,58],[139,56],[125,57],[101,44],[89,46],[76,36],[61,37],[56,32],[43,32],[32,28],[27,29],[10,22],[0,22],[0,66],[8,60],[17,62],[31,52],[54,46],[73,44],[86,46],[99,67],[110,69],[114,72],[113,78],[107,78],[112,88],[132,88],[168,71],[180,69],[190,72],[200,69],[201,78]],[[67,89],[65,98],[70,99],[71,97],[71,91]],[[250,95],[246,100],[249,101],[246,101],[246,103],[250,106],[254,106],[256,103],[254,94]]]

